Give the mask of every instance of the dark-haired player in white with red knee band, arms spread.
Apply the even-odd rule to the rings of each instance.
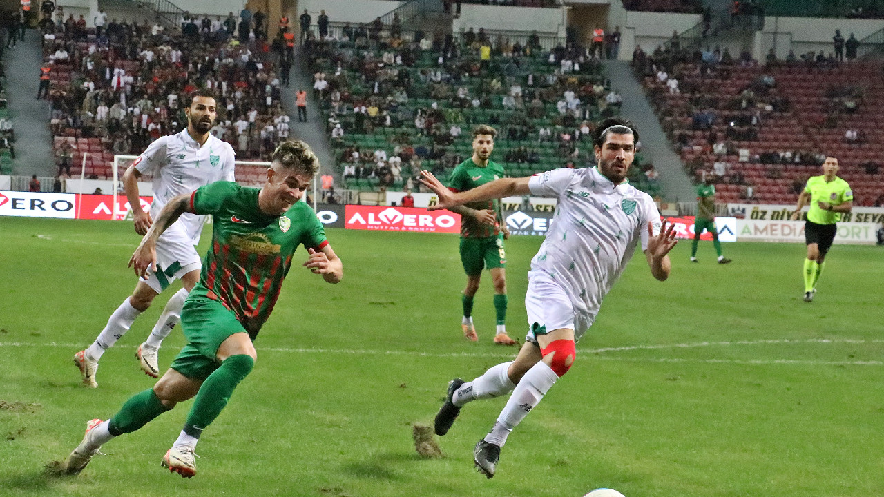
[[[667,228],[666,221],[661,226],[651,196],[626,180],[636,141],[631,122],[605,119],[594,140],[598,167],[496,180],[460,194],[447,191],[430,172],[421,172],[422,182],[439,195],[431,209],[510,195],[558,199],[528,272],[526,343],[513,362],[493,366],[466,383],[454,378],[436,415],[436,433],[445,435],[467,402],[512,392],[491,432],[474,450],[476,468],[487,478],[494,476],[509,433],[574,363],[575,342],[595,321],[602,299],[639,242],[653,277],[663,281],[669,276],[674,226]]]

